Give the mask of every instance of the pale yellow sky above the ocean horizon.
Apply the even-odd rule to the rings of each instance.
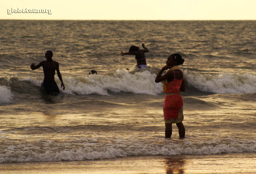
[[[256,20],[256,0],[0,1],[0,19]]]

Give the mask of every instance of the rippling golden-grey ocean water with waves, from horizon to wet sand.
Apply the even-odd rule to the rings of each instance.
[[[256,153],[256,21],[0,20],[0,30],[0,163]],[[149,66],[138,69],[119,53],[142,43]],[[46,50],[59,95],[30,69]],[[154,82],[171,53],[185,59],[184,140],[175,124],[164,138]]]

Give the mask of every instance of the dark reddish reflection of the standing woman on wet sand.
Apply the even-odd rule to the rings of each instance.
[[[181,156],[171,156],[163,161],[166,174],[184,174],[184,165],[187,160]]]

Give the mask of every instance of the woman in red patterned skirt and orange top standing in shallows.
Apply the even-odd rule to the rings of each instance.
[[[165,92],[165,104],[163,105],[163,117],[165,118],[165,138],[171,138],[172,124],[176,123],[179,128],[180,138],[185,138],[185,127],[183,121],[183,100],[180,91],[185,91],[183,72],[178,65],[182,65],[184,59],[180,54],[171,54],[166,66],[162,67],[157,74],[155,82],[163,81],[163,91]],[[164,70],[167,70],[162,75]]]

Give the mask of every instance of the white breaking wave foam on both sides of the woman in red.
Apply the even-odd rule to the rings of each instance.
[[[254,93],[256,92],[256,76],[253,74],[221,73],[217,75],[200,74],[193,71],[184,72],[189,86],[200,91],[210,93]],[[65,90],[60,88],[60,81],[56,82],[66,94],[99,94],[109,95],[109,92],[131,92],[135,94],[158,95],[162,93],[162,83],[155,83],[156,74],[145,70],[131,74],[126,70],[118,69],[112,76],[89,75],[77,77],[62,77]],[[34,85],[41,86],[42,80],[25,78]]]

